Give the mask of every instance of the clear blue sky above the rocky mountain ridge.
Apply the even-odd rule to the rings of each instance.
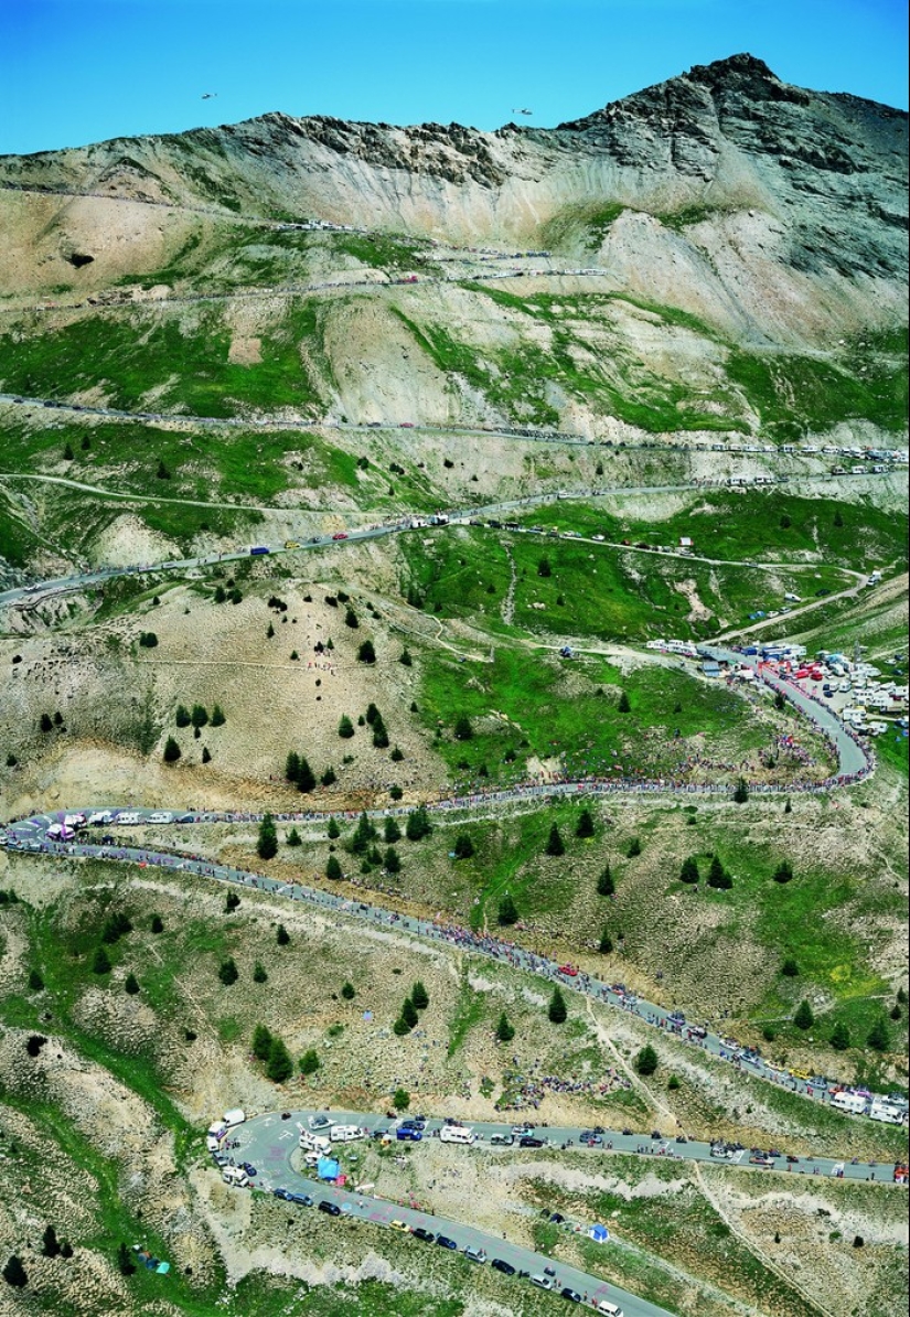
[[[0,0],[0,153],[270,109],[553,126],[741,50],[907,105],[905,0]]]

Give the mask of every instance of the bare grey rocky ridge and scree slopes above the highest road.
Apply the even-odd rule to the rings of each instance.
[[[270,113],[5,157],[0,183],[547,246],[752,344],[824,345],[906,302],[906,113],[751,55],[552,130]]]

